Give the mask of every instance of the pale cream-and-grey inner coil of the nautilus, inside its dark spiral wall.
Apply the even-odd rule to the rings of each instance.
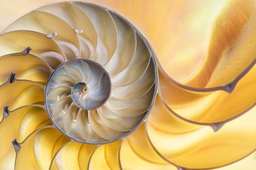
[[[33,22],[49,18],[59,24]],[[58,55],[35,54],[52,68],[44,104],[59,131],[78,142],[103,144],[128,136],[144,122],[156,97],[156,62],[147,40],[125,18],[90,3],[63,2],[22,20],[5,34],[37,34],[57,45]],[[26,45],[33,54],[33,44]]]

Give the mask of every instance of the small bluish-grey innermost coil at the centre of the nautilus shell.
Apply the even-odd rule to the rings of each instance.
[[[110,95],[111,82],[106,70],[93,61],[75,59],[65,62],[52,73],[48,81],[46,103],[49,107],[52,99],[57,97],[59,101],[62,97],[61,94],[51,91],[55,88],[64,90],[67,86],[67,91],[71,87],[70,96],[76,106],[92,110],[106,102]]]

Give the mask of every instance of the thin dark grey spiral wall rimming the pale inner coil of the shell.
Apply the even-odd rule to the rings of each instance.
[[[68,138],[70,138],[71,140],[74,140],[74,141],[76,141],[76,142],[79,142],[79,143],[84,143],[84,144],[89,144],[89,145],[103,145],[103,144],[107,144],[107,143],[112,143],[112,142],[115,142],[115,141],[117,141],[117,140],[120,140],[120,139],[124,139],[125,137],[127,137],[127,136],[129,136],[133,131],[135,131],[143,122],[145,122],[145,120],[147,119],[147,117],[149,116],[149,113],[150,113],[150,111],[151,111],[151,108],[153,107],[153,104],[154,104],[154,102],[155,102],[155,99],[156,99],[156,95],[157,95],[157,92],[158,92],[158,90],[157,90],[157,86],[158,86],[158,70],[157,70],[157,63],[156,63],[156,59],[155,59],[155,54],[154,54],[154,52],[153,52],[153,50],[151,49],[151,46],[149,45],[149,42],[147,41],[147,39],[135,28],[135,26],[133,26],[125,17],[123,17],[123,16],[121,16],[120,14],[118,14],[118,13],[116,13],[115,11],[113,11],[113,10],[110,10],[110,9],[108,9],[107,7],[104,7],[104,6],[101,6],[101,5],[98,5],[98,4],[95,4],[95,3],[91,3],[91,2],[82,2],[82,1],[69,1],[69,2],[57,2],[57,3],[53,3],[53,4],[58,4],[58,3],[85,3],[85,4],[88,4],[88,5],[92,5],[92,6],[96,6],[96,7],[98,7],[98,8],[102,8],[102,9],[104,9],[104,10],[107,10],[107,12],[109,12],[109,13],[113,13],[114,15],[116,15],[117,17],[120,17],[124,22],[126,22],[134,31],[135,31],[135,33],[137,33],[139,36],[140,36],[140,38],[143,40],[143,42],[145,43],[145,45],[146,45],[146,47],[147,47],[147,50],[149,51],[149,54],[150,54],[150,60],[153,62],[153,65],[154,65],[154,73],[155,73],[155,81],[154,81],[154,94],[153,94],[153,97],[152,97],[152,101],[151,101],[151,103],[150,103],[150,105],[149,105],[149,108],[148,108],[148,110],[146,111],[146,113],[145,113],[145,116],[144,116],[144,118],[141,120],[141,122],[140,123],[138,123],[138,125],[136,126],[136,127],[134,127],[131,131],[129,131],[126,135],[124,135],[124,136],[120,136],[120,137],[118,137],[118,138],[116,138],[115,140],[111,140],[111,141],[106,141],[106,142],[95,142],[95,143],[93,143],[93,142],[86,142],[86,141],[79,141],[79,140],[77,140],[77,139],[74,139],[74,138],[72,138],[72,137],[70,137],[70,136],[67,136],[60,128],[58,128],[57,126],[56,126],[56,124],[54,123],[54,121],[51,119],[51,117],[50,117],[50,115],[49,115],[49,113],[48,113],[48,111],[47,111],[47,106],[46,106],[46,104],[45,104],[45,111],[46,111],[46,113],[47,113],[47,116],[49,117],[49,119],[52,121],[52,123],[53,123],[53,126],[55,127],[55,128],[57,128],[64,136],[67,136]],[[76,59],[73,59],[73,60],[76,60]],[[69,60],[69,61],[71,61],[71,60]],[[65,62],[64,62],[65,63]],[[60,66],[62,66],[64,63],[62,63],[61,65],[59,65],[57,68],[59,68]],[[96,62],[95,62],[96,63]],[[98,64],[98,63],[97,63]],[[102,67],[102,66],[101,66]],[[56,68],[56,69],[57,69]],[[106,73],[107,73],[107,71],[106,71]],[[107,73],[108,74],[108,73]],[[53,72],[51,73],[51,75],[49,76],[49,78],[48,78],[48,81],[51,79],[51,77],[52,77],[52,75],[53,75]],[[47,84],[48,84],[48,81],[47,81],[47,83],[46,83],[46,86],[47,86]],[[111,92],[111,88],[110,88],[110,92]],[[44,91],[44,101],[46,101],[46,97],[45,97],[45,93],[46,93],[46,90]],[[106,100],[107,101],[107,100]]]

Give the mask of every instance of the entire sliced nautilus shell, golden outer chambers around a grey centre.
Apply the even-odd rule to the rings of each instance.
[[[183,82],[105,7],[17,19],[0,34],[0,170],[254,170],[255,4],[223,5]]]

